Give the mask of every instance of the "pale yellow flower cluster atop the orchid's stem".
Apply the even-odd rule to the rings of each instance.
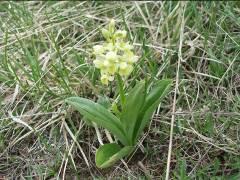
[[[93,63],[100,69],[101,82],[108,85],[109,81],[114,80],[115,74],[129,76],[138,56],[134,54],[132,44],[126,41],[127,32],[116,30],[114,20],[111,20],[107,28],[103,28],[101,32],[106,42],[93,47],[95,55]]]

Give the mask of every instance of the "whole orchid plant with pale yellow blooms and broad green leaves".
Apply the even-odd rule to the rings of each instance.
[[[140,81],[125,92],[123,79],[131,74],[138,56],[133,52],[133,45],[126,41],[127,32],[116,30],[114,20],[102,29],[102,34],[106,41],[93,47],[93,63],[100,70],[104,85],[117,78],[121,101],[119,113],[86,98],[69,97],[66,102],[84,116],[83,120],[95,123],[114,135],[115,142],[100,146],[95,156],[97,167],[107,168],[133,152],[152,114],[169,92],[172,81],[158,80],[153,85]]]

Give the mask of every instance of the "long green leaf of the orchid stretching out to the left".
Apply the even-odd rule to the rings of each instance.
[[[109,130],[121,141],[122,144],[129,144],[122,129],[120,120],[102,105],[80,97],[67,98],[66,102],[72,105],[88,120]]]

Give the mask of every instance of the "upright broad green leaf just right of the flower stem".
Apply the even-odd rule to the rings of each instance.
[[[134,127],[138,124],[138,115],[142,109],[145,100],[145,83],[139,82],[129,92],[127,100],[122,110],[121,122],[124,125],[125,132],[132,140]]]

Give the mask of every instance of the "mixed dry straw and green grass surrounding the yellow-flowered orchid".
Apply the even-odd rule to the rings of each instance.
[[[164,179],[169,164],[171,179],[240,178],[239,2],[11,1],[0,14],[0,177]],[[97,134],[64,99],[117,90],[91,57],[110,18],[141,57],[127,83],[175,90],[127,165],[99,170]]]

